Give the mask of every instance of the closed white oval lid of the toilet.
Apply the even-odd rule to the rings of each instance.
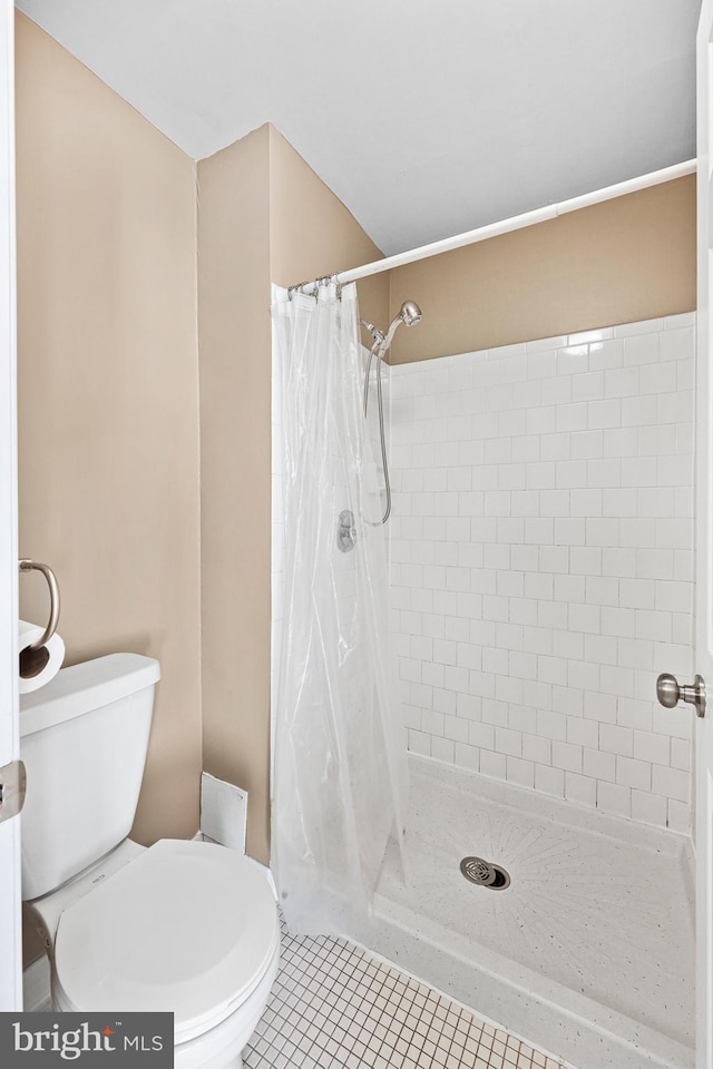
[[[75,1007],[173,1012],[184,1042],[247,998],[277,940],[257,865],[224,846],[162,840],[62,913],[55,965]]]

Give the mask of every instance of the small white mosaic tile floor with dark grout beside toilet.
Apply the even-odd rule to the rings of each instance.
[[[563,1069],[342,939],[289,935],[245,1069]]]

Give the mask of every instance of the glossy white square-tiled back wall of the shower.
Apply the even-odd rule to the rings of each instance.
[[[693,322],[391,370],[411,751],[688,831]]]

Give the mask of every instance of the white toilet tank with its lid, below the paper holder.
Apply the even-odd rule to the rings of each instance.
[[[110,654],[20,697],[22,898],[39,898],[127,837],[141,786],[157,660]]]

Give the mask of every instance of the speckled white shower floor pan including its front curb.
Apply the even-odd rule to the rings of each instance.
[[[423,758],[410,795],[409,881],[390,846],[361,942],[577,1069],[692,1069],[685,836]]]

